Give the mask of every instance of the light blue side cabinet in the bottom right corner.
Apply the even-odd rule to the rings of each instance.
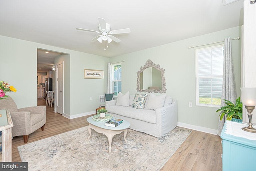
[[[225,133],[226,129],[225,123],[220,135],[222,171],[256,171],[256,141],[228,135]]]

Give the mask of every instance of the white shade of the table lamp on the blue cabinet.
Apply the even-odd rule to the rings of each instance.
[[[256,88],[246,88],[241,89],[241,101],[246,106],[256,106]]]

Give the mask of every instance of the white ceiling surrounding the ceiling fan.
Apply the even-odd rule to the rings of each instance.
[[[229,0],[230,1],[230,0]],[[98,36],[75,28],[98,30],[98,17],[120,43],[90,41]],[[1,0],[0,35],[113,57],[224,30],[243,24],[243,0]]]

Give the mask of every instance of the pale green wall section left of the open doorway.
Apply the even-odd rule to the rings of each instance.
[[[0,36],[0,52],[0,79],[17,89],[9,94],[18,108],[37,105],[36,45]]]

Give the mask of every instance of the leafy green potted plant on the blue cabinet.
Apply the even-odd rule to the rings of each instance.
[[[225,106],[220,107],[216,111],[220,111],[220,120],[226,115],[227,120],[234,120],[238,122],[242,122],[243,117],[243,103],[240,101],[240,97],[236,99],[236,104],[232,103],[231,101],[225,100]],[[233,118],[233,119],[232,119]]]

